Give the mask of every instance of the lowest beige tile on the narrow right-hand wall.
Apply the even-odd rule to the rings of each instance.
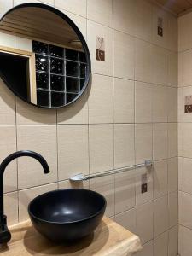
[[[179,226],[178,253],[182,256],[189,256],[192,253],[192,230]]]

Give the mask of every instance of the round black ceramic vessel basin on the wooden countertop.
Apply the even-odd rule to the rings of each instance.
[[[28,212],[32,224],[49,240],[76,241],[90,235],[101,222],[105,198],[87,189],[54,190],[34,198]]]

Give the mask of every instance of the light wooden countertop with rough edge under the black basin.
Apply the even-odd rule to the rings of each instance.
[[[94,235],[75,245],[56,245],[39,235],[30,221],[9,227],[12,239],[0,248],[1,256],[131,256],[141,249],[138,236],[109,218],[103,218]]]

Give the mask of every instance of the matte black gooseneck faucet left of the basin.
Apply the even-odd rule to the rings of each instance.
[[[3,160],[0,165],[0,245],[7,243],[11,239],[11,234],[7,226],[7,216],[4,215],[3,207],[3,174],[9,162],[20,156],[30,156],[35,158],[43,166],[44,173],[49,173],[49,166],[46,160],[44,160],[44,157],[30,150],[17,151],[13,154],[9,154],[9,156]]]

